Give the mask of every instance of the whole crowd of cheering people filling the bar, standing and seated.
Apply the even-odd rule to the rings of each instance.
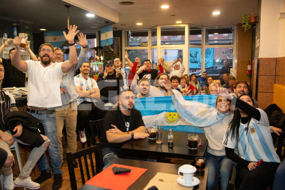
[[[231,74],[227,61],[221,70],[220,80],[214,80],[202,72],[184,74],[182,59],[165,63],[158,59],[152,69],[150,60],[136,58],[132,63],[125,52],[126,66],[119,58],[107,60],[103,73],[97,81],[89,76],[90,64],[87,62],[86,36],[78,33],[75,25],[69,32],[63,32],[70,46],[69,60],[63,60],[59,47],[44,43],[39,48],[39,58],[30,50],[31,60],[21,61],[19,38],[15,37],[15,47],[9,52],[9,59],[0,59],[0,83],[19,84],[28,74],[27,112],[17,112],[15,99],[2,87],[0,125],[0,168],[6,189],[26,187],[39,189],[41,183],[54,177],[52,189],[62,186],[63,171],[63,127],[67,132],[67,152],[76,152],[76,131],[81,142],[86,142],[85,128],[90,118],[105,118],[104,133],[100,142],[104,165],[114,158],[120,158],[120,147],[130,139],[146,138],[146,127],[142,114],[134,108],[136,98],[172,96],[177,100],[174,106],[184,120],[202,127],[208,140],[206,167],[209,167],[207,189],[215,189],[220,179],[220,189],[226,189],[233,162],[237,162],[241,189],[273,190],[285,187],[285,161],[277,156],[271,133],[279,135],[281,129],[270,127],[268,117],[258,103],[250,96],[249,84],[237,81]],[[78,37],[81,52],[77,58],[74,36]],[[10,40],[1,47],[7,46]],[[91,58],[89,61],[94,61]],[[80,69],[80,73],[75,74]],[[74,76],[75,75],[75,76]],[[17,76],[17,77],[13,77]],[[12,78],[12,79],[10,79]],[[16,86],[14,85],[13,86]],[[23,85],[23,84],[22,84]],[[21,84],[19,84],[21,87]],[[215,109],[194,101],[185,101],[183,96],[198,94],[217,95]],[[108,110],[107,105],[113,106]],[[193,107],[199,109],[193,109]],[[43,130],[29,126],[41,123]],[[12,165],[14,157],[9,149],[13,142],[30,145],[30,156],[16,180],[13,180]],[[50,165],[45,150],[49,152]],[[139,159],[139,158],[138,158]],[[257,166],[257,162],[263,162]],[[41,175],[32,181],[30,173],[37,165]],[[74,160],[74,167],[78,163]]]

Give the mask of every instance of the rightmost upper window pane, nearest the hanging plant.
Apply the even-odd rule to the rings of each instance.
[[[233,45],[233,27],[206,28],[205,45]]]

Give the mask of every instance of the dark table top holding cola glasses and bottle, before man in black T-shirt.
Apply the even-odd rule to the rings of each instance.
[[[181,158],[187,160],[193,160],[196,156],[204,156],[207,149],[208,141],[204,134],[198,134],[202,140],[202,146],[199,146],[197,150],[191,150],[188,148],[188,134],[189,132],[173,131],[173,147],[168,147],[168,132],[164,130],[162,133],[162,144],[157,144],[156,140],[145,139],[133,139],[129,140],[121,147],[122,156],[130,156],[131,154],[140,155],[153,155],[153,156],[165,156],[168,158]]]

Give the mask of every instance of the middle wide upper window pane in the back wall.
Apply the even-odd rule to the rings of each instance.
[[[161,45],[173,45],[185,43],[185,27],[172,26],[161,28]]]

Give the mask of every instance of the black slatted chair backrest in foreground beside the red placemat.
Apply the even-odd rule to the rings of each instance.
[[[66,153],[66,156],[67,156],[67,165],[68,165],[68,170],[70,173],[70,184],[72,186],[72,190],[77,190],[73,160],[78,159],[78,165],[79,165],[79,169],[81,173],[81,180],[83,184],[85,184],[85,176],[84,176],[85,171],[87,173],[87,180],[89,180],[90,178],[94,177],[96,174],[103,171],[104,163],[103,163],[103,156],[101,153],[100,142],[97,142],[96,145],[93,147],[89,147],[87,149],[77,151],[73,154],[70,152]],[[92,177],[90,176],[90,173],[89,173],[90,168],[88,165],[87,156],[89,158],[89,165],[92,170]],[[94,158],[95,158],[95,163],[93,160]],[[84,166],[83,164],[85,165],[85,171],[83,171],[83,166]]]

